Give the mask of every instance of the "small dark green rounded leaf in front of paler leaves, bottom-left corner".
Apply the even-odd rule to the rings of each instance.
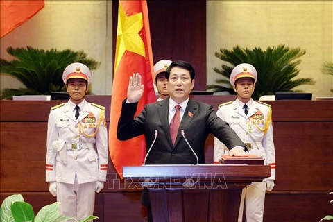
[[[29,203],[16,201],[12,203],[10,209],[12,210],[12,217],[15,222],[33,221],[35,219],[33,206]]]

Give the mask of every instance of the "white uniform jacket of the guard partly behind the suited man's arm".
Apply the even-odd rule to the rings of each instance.
[[[247,103],[248,104],[248,103]],[[275,180],[275,148],[273,142],[273,126],[271,105],[251,99],[248,114],[244,114],[244,103],[238,99],[219,105],[217,116],[227,122],[244,144],[251,144],[250,154],[264,158],[264,163],[271,165],[271,177]],[[222,155],[228,154],[228,148],[214,137],[214,163],[218,163]]]

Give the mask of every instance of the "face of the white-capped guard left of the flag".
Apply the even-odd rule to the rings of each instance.
[[[71,101],[78,104],[85,98],[87,83],[81,78],[71,78],[68,80],[66,88]]]

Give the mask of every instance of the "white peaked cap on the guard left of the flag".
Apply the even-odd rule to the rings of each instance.
[[[82,78],[86,80],[89,85],[90,81],[92,80],[92,72],[83,63],[74,62],[69,64],[62,73],[62,80],[65,84],[70,78]]]

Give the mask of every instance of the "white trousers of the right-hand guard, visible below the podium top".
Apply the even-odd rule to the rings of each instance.
[[[242,190],[238,222],[243,221],[244,202],[246,222],[262,222],[264,219],[265,194],[266,181],[253,182]]]

